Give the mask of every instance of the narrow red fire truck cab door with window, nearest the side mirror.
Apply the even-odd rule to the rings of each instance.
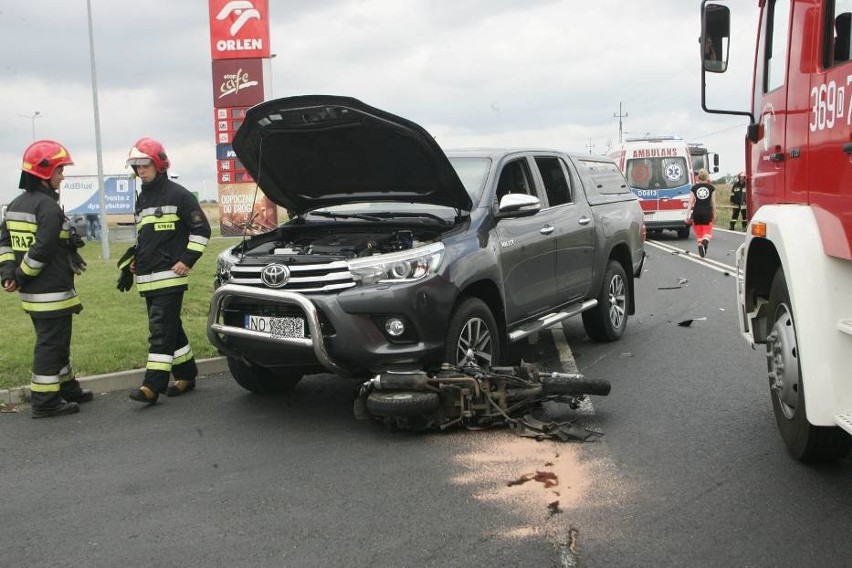
[[[790,17],[790,0],[769,0],[761,16],[753,103],[761,135],[751,147],[751,204],[754,209],[764,203],[786,200]]]

